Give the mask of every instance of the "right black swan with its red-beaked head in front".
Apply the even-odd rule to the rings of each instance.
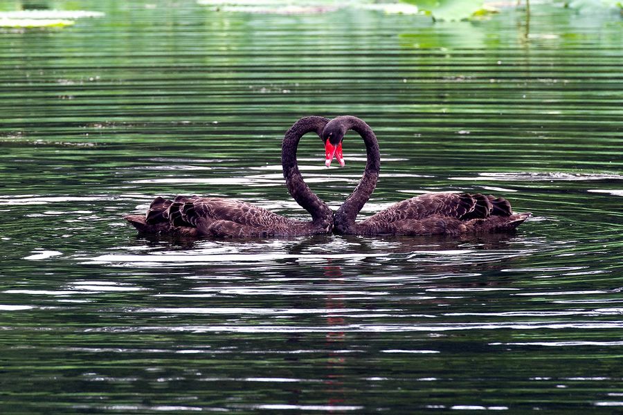
[[[513,213],[503,198],[469,193],[427,193],[395,203],[368,219],[355,223],[356,215],[370,199],[379,178],[379,144],[370,126],[353,116],[341,116],[327,123],[323,141],[327,166],[334,149],[340,148],[347,130],[359,133],[365,142],[368,162],[359,185],[335,214],[334,232],[338,234],[477,234],[508,232],[520,225],[530,213]],[[341,160],[343,165],[343,160]]]

